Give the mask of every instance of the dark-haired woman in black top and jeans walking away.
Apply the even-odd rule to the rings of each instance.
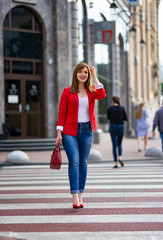
[[[113,146],[113,168],[118,168],[118,161],[121,167],[123,167],[124,163],[122,161],[122,140],[124,136],[124,121],[127,121],[127,114],[124,107],[121,106],[119,97],[112,97],[112,106],[108,107],[107,118],[110,120],[109,132]]]

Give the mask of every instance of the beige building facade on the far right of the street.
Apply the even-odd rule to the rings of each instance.
[[[158,0],[142,0],[132,9],[130,21],[130,103],[131,112],[144,102],[150,113],[149,123],[160,103]],[[130,115],[134,123],[134,115]],[[132,131],[134,125],[131,125]]]

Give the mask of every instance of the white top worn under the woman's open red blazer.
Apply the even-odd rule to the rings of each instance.
[[[78,123],[80,122],[89,122],[89,103],[88,96],[79,97],[79,110],[78,110]]]

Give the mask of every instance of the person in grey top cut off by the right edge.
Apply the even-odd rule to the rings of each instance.
[[[153,131],[152,135],[155,137],[155,128],[158,127],[158,131],[160,132],[161,142],[162,142],[162,152],[163,152],[163,101],[162,107],[155,113],[155,117],[153,119]]]

